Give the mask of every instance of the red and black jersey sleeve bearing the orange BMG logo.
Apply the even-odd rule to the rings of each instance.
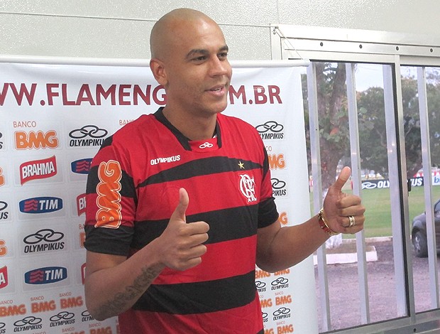
[[[128,157],[111,136],[93,158],[87,177],[84,247],[92,252],[128,256],[136,204]]]

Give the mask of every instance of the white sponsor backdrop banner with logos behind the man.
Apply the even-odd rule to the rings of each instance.
[[[119,333],[85,306],[85,183],[104,139],[165,105],[165,91],[148,67],[122,64],[0,63],[0,73],[0,334]],[[280,223],[307,220],[299,69],[234,66],[225,113],[265,142]],[[255,284],[265,333],[317,333],[312,257],[257,268]]]

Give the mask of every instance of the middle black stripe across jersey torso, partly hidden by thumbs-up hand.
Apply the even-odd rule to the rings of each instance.
[[[258,205],[187,215],[187,222],[204,221],[209,224],[209,239],[205,244],[251,237],[257,232],[257,220]],[[153,239],[162,235],[168,225],[168,221],[166,219],[135,222],[136,234],[132,247],[141,249],[146,244],[152,242]],[[240,226],[239,229],[237,225]]]

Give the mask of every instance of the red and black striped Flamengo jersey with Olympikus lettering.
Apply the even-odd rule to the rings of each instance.
[[[192,269],[164,269],[119,316],[121,330],[260,332],[257,229],[278,213],[263,141],[241,119],[219,114],[214,138],[190,141],[159,109],[106,139],[87,179],[84,246],[129,257],[165,230],[180,188],[189,195],[187,222],[209,224],[207,253]]]

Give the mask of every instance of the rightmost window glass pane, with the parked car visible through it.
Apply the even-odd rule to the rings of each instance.
[[[423,181],[422,142],[420,136],[420,114],[417,91],[417,68],[402,68],[402,97],[405,115],[405,150],[407,155],[408,178],[411,180],[409,193],[409,220],[411,222],[412,254],[413,254],[413,278],[414,278],[414,303],[416,312],[427,311],[433,308],[431,305],[431,292],[429,281],[429,260],[426,232],[425,215],[425,189]],[[426,68],[427,78],[427,106],[429,122],[429,142],[431,151],[431,196],[432,207],[437,210],[440,199],[440,71],[439,68]],[[433,210],[434,212],[434,210]],[[439,217],[436,217],[439,216]],[[440,223],[440,215],[434,213],[434,221]],[[439,230],[440,233],[440,230]],[[436,244],[439,247],[439,236]]]

